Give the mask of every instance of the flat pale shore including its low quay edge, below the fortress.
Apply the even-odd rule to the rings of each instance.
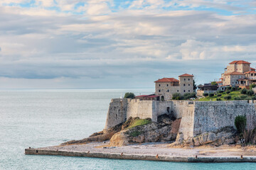
[[[255,147],[170,148],[169,144],[149,143],[124,147],[105,147],[102,142],[25,149],[25,154],[103,159],[132,159],[159,162],[256,162]],[[241,158],[241,155],[242,158]],[[197,157],[196,157],[197,156]]]

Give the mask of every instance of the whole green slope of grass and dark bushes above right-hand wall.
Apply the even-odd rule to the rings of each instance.
[[[217,94],[212,96],[211,94],[203,94],[204,98],[200,98],[199,101],[240,101],[240,100],[256,100],[256,96],[253,91],[247,89],[241,89],[240,91],[218,91]],[[218,100],[217,100],[218,99]]]

